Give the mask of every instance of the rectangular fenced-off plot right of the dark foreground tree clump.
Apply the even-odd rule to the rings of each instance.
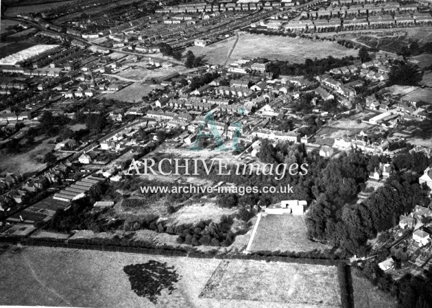
[[[222,261],[200,297],[307,307],[341,303],[334,266],[242,260]]]

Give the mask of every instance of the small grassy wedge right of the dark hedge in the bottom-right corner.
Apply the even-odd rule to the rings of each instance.
[[[395,308],[396,300],[380,291],[368,279],[360,277],[352,270],[352,289],[355,308]]]

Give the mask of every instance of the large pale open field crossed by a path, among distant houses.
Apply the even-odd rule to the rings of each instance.
[[[325,58],[333,56],[357,56],[358,51],[347,49],[330,41],[312,41],[283,36],[264,36],[263,34],[239,34],[237,43],[231,55],[231,60],[248,57],[264,57],[269,60],[287,60],[304,62],[306,58]],[[235,38],[209,45],[208,47],[192,47],[196,56],[205,55],[210,64],[224,64],[226,56]]]

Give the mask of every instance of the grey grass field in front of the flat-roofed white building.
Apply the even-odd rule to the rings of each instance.
[[[250,250],[309,252],[328,248],[308,239],[303,216],[269,214],[261,217]]]

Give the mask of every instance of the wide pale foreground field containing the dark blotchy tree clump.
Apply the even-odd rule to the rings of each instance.
[[[0,305],[116,308],[341,305],[337,270],[324,265],[226,262],[24,246],[0,254],[0,276]]]

